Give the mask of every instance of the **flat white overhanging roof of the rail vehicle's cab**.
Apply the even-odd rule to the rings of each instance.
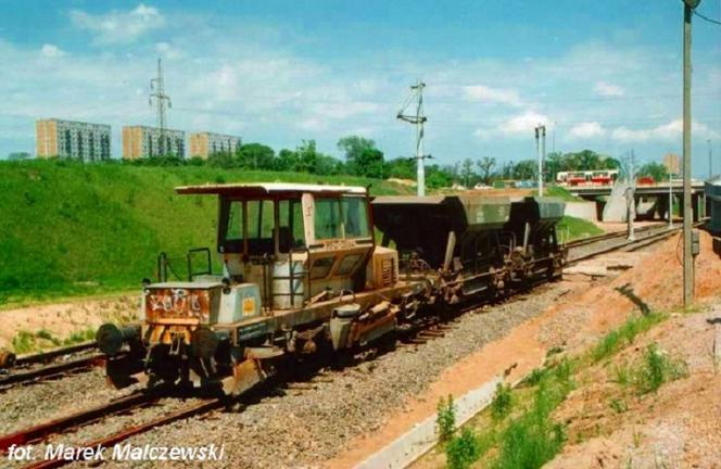
[[[298,195],[306,192],[322,194],[366,194],[366,188],[358,186],[330,186],[286,182],[252,182],[181,186],[175,188],[179,194],[218,194],[236,197]]]

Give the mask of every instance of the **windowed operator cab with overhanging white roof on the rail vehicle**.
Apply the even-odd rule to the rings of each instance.
[[[365,188],[253,183],[176,190],[218,195],[223,276],[231,284],[257,284],[264,313],[365,288],[374,251]]]

